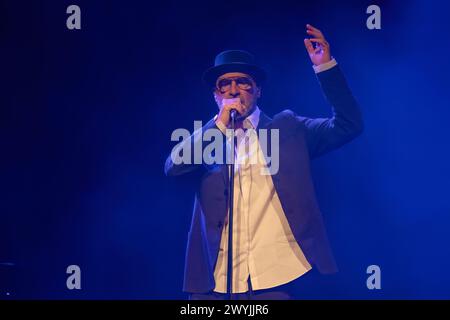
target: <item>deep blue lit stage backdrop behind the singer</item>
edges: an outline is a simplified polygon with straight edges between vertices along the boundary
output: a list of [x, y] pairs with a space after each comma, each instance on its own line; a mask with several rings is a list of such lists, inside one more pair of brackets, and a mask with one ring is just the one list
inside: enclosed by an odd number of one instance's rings
[[[81, 7], [82, 29], [66, 28]], [[381, 30], [366, 8], [381, 7]], [[202, 72], [246, 49], [260, 107], [328, 116], [303, 39], [331, 43], [366, 130], [314, 161], [340, 272], [305, 299], [450, 298], [446, 1], [0, 2], [0, 288], [15, 298], [184, 299], [193, 192], [163, 174], [176, 128], [217, 111]], [[66, 268], [82, 290], [66, 288]], [[368, 290], [366, 268], [381, 268]]]

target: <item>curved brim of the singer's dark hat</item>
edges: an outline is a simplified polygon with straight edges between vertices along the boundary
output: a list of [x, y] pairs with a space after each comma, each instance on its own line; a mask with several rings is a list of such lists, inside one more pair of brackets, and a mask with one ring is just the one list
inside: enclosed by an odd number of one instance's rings
[[266, 80], [266, 72], [260, 67], [248, 63], [228, 63], [211, 67], [203, 73], [203, 81], [210, 87], [216, 86], [217, 78], [228, 72], [242, 72], [251, 76], [260, 85]]

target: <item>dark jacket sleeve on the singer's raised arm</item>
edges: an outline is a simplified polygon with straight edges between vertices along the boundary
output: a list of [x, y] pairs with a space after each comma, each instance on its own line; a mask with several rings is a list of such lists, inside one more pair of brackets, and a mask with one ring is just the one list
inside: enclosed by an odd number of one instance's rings
[[331, 118], [297, 120], [306, 128], [310, 157], [318, 157], [353, 140], [364, 125], [358, 103], [353, 97], [339, 66], [317, 73], [325, 98], [331, 105]]

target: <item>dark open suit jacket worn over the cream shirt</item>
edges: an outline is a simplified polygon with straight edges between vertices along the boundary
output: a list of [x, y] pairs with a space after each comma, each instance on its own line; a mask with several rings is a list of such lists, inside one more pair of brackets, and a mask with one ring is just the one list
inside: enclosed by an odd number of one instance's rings
[[[275, 190], [292, 233], [309, 263], [321, 273], [333, 273], [337, 267], [316, 202], [310, 160], [358, 136], [363, 130], [363, 122], [339, 66], [318, 73], [317, 78], [332, 106], [331, 118], [305, 118], [285, 110], [270, 119], [261, 113], [258, 129], [279, 129], [279, 170], [272, 176]], [[203, 127], [203, 133], [209, 128], [217, 128], [213, 120]], [[193, 135], [184, 143], [193, 144], [195, 139]], [[196, 177], [183, 290], [210, 291], [215, 287], [214, 268], [227, 216], [226, 165], [175, 165], [169, 155], [165, 173], [168, 176], [191, 173]]]

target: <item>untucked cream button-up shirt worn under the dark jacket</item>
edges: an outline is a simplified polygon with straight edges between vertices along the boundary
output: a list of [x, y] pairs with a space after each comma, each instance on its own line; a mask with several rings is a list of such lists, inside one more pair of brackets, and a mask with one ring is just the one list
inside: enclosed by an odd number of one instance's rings
[[[336, 65], [332, 59], [315, 66], [316, 73]], [[256, 135], [261, 111], [248, 116], [242, 129], [236, 130], [234, 207], [233, 207], [233, 293], [288, 283], [311, 269], [295, 240], [273, 185], [271, 175], [263, 175], [267, 164]], [[226, 127], [216, 121], [225, 133]], [[228, 257], [228, 219], [222, 232], [219, 255], [214, 270], [214, 291], [226, 293]]]

